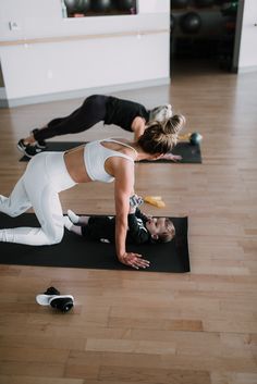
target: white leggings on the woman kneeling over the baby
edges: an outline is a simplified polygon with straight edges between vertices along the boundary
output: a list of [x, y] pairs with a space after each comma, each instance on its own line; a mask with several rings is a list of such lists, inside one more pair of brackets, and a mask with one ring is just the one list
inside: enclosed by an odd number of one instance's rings
[[10, 197], [0, 195], [0, 212], [17, 216], [27, 209], [34, 212], [40, 227], [0, 230], [0, 241], [42, 246], [60, 243], [64, 222], [59, 193], [76, 183], [66, 171], [64, 152], [42, 152], [35, 156]]

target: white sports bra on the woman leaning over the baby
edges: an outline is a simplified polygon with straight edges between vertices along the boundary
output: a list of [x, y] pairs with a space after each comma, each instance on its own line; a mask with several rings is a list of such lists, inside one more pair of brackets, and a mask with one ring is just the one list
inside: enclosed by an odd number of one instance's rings
[[134, 163], [134, 159], [127, 154], [124, 154], [124, 153], [121, 153], [121, 152], [118, 152], [112, 149], [103, 147], [101, 145], [101, 143], [103, 143], [103, 141], [120, 144], [124, 147], [133, 149], [136, 154], [137, 154], [137, 151], [135, 150], [135, 148], [128, 146], [127, 144], [120, 143], [120, 141], [111, 139], [111, 138], [91, 141], [85, 146], [84, 162], [85, 162], [85, 168], [86, 168], [88, 176], [93, 181], [111, 183], [111, 182], [113, 182], [114, 177], [111, 176], [109, 173], [107, 173], [105, 170], [105, 163], [106, 163], [107, 159], [109, 159], [111, 157], [119, 157], [119, 158], [127, 159], [127, 160], [132, 161], [133, 163]]

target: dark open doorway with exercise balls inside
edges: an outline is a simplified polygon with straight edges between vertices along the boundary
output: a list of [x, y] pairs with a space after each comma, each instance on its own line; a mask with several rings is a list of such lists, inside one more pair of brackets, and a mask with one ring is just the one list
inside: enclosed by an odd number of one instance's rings
[[187, 67], [236, 72], [237, 13], [238, 0], [171, 0], [171, 75]]

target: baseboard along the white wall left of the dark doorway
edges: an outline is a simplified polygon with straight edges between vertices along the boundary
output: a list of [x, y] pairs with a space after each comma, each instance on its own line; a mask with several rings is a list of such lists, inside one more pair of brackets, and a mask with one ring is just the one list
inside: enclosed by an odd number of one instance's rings
[[64, 92], [57, 94], [48, 94], [48, 95], [37, 95], [32, 97], [24, 97], [17, 99], [0, 99], [0, 108], [13, 108], [20, 106], [28, 106], [28, 104], [38, 104], [44, 102], [59, 101], [59, 100], [68, 100], [68, 99], [76, 99], [81, 97], [87, 97], [94, 94], [110, 94], [114, 91], [122, 91], [128, 89], [138, 89], [138, 88], [148, 88], [156, 87], [161, 85], [169, 85], [170, 77], [158, 78], [154, 80], [145, 80], [145, 82], [135, 82], [135, 83], [126, 83], [119, 84], [112, 86], [105, 87], [96, 87], [96, 88], [86, 88], [86, 89], [77, 89]]

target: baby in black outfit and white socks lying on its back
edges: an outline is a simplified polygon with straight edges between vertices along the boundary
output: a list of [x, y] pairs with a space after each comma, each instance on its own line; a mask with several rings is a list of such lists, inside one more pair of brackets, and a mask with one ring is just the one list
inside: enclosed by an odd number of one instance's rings
[[[65, 227], [76, 235], [102, 243], [115, 241], [115, 216], [78, 216], [68, 210]], [[127, 215], [127, 244], [169, 243], [175, 236], [175, 227], [168, 218], [151, 218], [139, 208], [130, 207]]]

